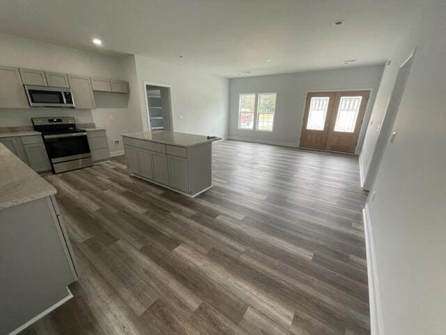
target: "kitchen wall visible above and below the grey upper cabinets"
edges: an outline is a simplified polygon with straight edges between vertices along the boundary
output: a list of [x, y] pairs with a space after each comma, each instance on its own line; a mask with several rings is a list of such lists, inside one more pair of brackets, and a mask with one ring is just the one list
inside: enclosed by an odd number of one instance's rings
[[[105, 77], [128, 80], [130, 75], [124, 60], [94, 52], [77, 50], [28, 38], [0, 34], [0, 64], [73, 73], [90, 77]], [[96, 95], [96, 94], [95, 94]], [[31, 126], [31, 117], [74, 116], [78, 123], [95, 122], [107, 128], [110, 150], [121, 150], [113, 140], [120, 138], [122, 131], [137, 131], [136, 125], [129, 124], [129, 111], [125, 95], [108, 94], [107, 99], [98, 98], [96, 110], [72, 110], [64, 108], [28, 108], [0, 110], [0, 126]], [[102, 106], [102, 107], [101, 107]], [[139, 110], [135, 114], [139, 114]]]

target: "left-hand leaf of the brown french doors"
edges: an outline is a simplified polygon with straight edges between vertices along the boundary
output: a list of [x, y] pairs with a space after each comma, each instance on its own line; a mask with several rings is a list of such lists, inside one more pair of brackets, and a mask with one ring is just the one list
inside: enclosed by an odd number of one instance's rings
[[336, 92], [310, 92], [307, 94], [300, 147], [325, 149], [335, 96]]

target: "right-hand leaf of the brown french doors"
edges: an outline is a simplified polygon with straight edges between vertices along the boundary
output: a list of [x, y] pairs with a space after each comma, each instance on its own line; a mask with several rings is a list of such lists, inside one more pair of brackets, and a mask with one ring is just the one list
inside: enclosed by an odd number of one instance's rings
[[326, 150], [355, 153], [370, 91], [337, 92], [330, 117]]

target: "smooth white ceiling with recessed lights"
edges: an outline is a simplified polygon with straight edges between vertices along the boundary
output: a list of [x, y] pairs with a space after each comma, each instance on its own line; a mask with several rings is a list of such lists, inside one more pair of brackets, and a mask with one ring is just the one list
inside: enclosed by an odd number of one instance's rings
[[[238, 77], [384, 63], [422, 0], [0, 0], [0, 8], [6, 34]], [[334, 27], [338, 20], [345, 24]]]

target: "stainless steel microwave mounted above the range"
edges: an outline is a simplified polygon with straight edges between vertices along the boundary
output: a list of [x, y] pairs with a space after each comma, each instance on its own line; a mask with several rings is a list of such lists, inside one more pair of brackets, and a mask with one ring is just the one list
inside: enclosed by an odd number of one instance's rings
[[31, 107], [75, 107], [71, 89], [24, 85]]

